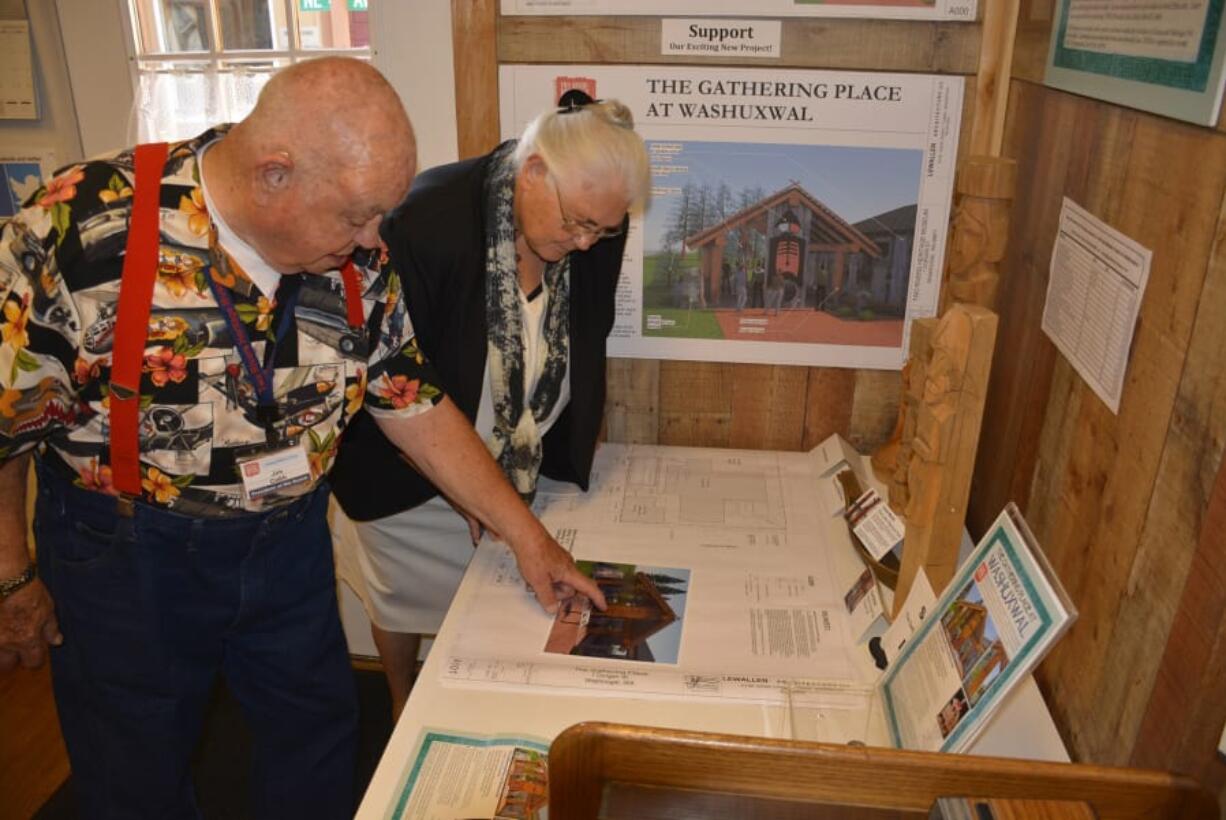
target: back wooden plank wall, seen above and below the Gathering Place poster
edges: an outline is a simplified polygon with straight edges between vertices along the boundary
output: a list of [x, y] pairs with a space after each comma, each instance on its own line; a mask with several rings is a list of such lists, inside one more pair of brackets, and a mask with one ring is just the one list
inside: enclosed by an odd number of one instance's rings
[[[964, 75], [969, 82], [959, 156], [966, 154], [972, 141], [976, 109], [987, 110], [983, 121], [991, 124], [1002, 101], [996, 88], [998, 71], [978, 89], [975, 82], [984, 59], [980, 49], [983, 22], [786, 20], [783, 59], [766, 64], [662, 56], [657, 17], [501, 17], [494, 6], [494, 0], [452, 2], [456, 54], [466, 55], [456, 64], [457, 97], [468, 101], [471, 112], [461, 112], [461, 156], [479, 153], [498, 141], [497, 96], [482, 98], [474, 91], [484, 82], [481, 75], [488, 76], [488, 63], [481, 58], [488, 48], [497, 49], [498, 63], [707, 64]], [[1000, 26], [991, 25], [994, 31]], [[489, 28], [497, 32], [497, 42], [483, 47]], [[997, 49], [987, 59], [999, 66], [1000, 55]], [[981, 141], [991, 141], [991, 136]], [[608, 368], [606, 433], [609, 440], [623, 442], [779, 450], [809, 449], [831, 433], [841, 433], [868, 451], [889, 438], [899, 391], [896, 371], [615, 359]]]

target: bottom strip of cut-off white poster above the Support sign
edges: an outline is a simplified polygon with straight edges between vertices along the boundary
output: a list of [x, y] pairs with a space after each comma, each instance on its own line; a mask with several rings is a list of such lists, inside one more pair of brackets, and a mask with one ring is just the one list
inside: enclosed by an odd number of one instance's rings
[[975, 20], [976, 0], [503, 0], [504, 15], [770, 15]]

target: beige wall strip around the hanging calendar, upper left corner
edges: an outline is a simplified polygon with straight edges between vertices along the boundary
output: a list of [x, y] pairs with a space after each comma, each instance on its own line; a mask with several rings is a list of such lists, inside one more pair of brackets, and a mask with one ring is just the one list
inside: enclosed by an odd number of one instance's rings
[[47, 0], [25, 6], [22, 0], [0, 0], [0, 18], [29, 18], [39, 119], [0, 120], [0, 154], [50, 152], [54, 164], [63, 165], [82, 153], [59, 20]]

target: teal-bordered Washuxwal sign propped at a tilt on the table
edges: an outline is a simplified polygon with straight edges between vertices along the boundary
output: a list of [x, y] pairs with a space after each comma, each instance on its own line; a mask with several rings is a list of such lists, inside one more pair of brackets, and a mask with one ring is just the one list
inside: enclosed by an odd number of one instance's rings
[[[1009, 504], [931, 614], [897, 656], [891, 653], [864, 717], [864, 740], [966, 750], [1075, 619], [1059, 579]], [[792, 737], [820, 738], [809, 726], [813, 715], [803, 693], [790, 693]]]

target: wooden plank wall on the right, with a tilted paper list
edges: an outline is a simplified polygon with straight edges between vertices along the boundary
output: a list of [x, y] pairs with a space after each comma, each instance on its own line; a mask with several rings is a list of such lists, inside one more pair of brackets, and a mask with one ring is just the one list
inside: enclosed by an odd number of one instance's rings
[[[1038, 674], [1073, 754], [1221, 791], [1226, 134], [1043, 87], [1052, 10], [1021, 4], [1020, 181], [969, 523], [1016, 500], [1080, 609]], [[1118, 416], [1040, 330], [1064, 196], [1154, 251]]]

